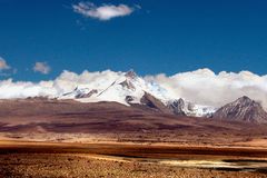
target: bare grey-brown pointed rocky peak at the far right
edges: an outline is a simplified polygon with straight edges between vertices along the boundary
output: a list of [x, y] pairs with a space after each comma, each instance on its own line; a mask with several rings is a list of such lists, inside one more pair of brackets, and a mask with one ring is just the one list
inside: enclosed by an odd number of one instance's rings
[[219, 108], [214, 118], [267, 123], [267, 112], [261, 105], [246, 96]]

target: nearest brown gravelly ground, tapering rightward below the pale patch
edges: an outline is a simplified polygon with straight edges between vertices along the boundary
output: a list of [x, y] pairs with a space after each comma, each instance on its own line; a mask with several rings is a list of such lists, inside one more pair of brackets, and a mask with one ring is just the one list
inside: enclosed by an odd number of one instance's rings
[[0, 177], [90, 177], [90, 178], [264, 178], [264, 172], [224, 171], [215, 169], [179, 168], [148, 162], [102, 160], [61, 154], [0, 155]]

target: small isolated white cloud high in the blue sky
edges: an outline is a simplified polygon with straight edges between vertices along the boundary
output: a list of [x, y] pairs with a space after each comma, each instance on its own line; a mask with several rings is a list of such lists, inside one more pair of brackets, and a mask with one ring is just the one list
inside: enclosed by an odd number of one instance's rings
[[[92, 2], [79, 2], [78, 4], [73, 4], [72, 8], [77, 13], [99, 20], [110, 20], [117, 17], [129, 16], [136, 9], [128, 7], [127, 4], [102, 4], [100, 7], [97, 7]], [[138, 9], [139, 8], [140, 6], [138, 6]]]

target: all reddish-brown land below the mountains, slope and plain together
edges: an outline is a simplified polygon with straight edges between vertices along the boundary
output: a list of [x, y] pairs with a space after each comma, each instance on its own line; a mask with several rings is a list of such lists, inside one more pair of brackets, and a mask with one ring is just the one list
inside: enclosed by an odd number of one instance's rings
[[0, 102], [3, 177], [266, 177], [267, 126], [116, 102]]

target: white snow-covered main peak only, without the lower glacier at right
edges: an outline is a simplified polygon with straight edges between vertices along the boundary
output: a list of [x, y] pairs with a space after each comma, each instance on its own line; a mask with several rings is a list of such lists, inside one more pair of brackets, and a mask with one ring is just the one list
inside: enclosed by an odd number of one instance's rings
[[[116, 101], [128, 106], [129, 103], [140, 103], [145, 92], [149, 92], [161, 101], [167, 102], [167, 91], [160, 86], [146, 82], [132, 70], [118, 75], [115, 81], [106, 81], [109, 85], [102, 88], [76, 88], [73, 91], [62, 95], [59, 99], [76, 99], [81, 102]], [[88, 95], [91, 91], [97, 92]], [[130, 100], [128, 100], [129, 97], [131, 98]]]

